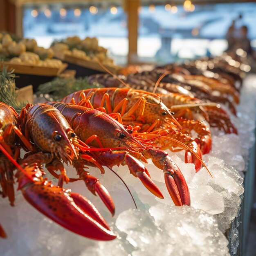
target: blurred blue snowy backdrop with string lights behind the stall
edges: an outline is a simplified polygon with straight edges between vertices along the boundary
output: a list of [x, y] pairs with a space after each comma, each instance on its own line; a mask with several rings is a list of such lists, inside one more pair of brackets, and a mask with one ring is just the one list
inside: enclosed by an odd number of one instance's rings
[[232, 22], [237, 31], [247, 26], [251, 46], [256, 49], [256, 3], [251, 1], [13, 0], [11, 3], [15, 5], [16, 34], [34, 38], [43, 47], [67, 36], [97, 37], [99, 45], [108, 48], [120, 65], [163, 64], [220, 55], [228, 48], [227, 31]]

